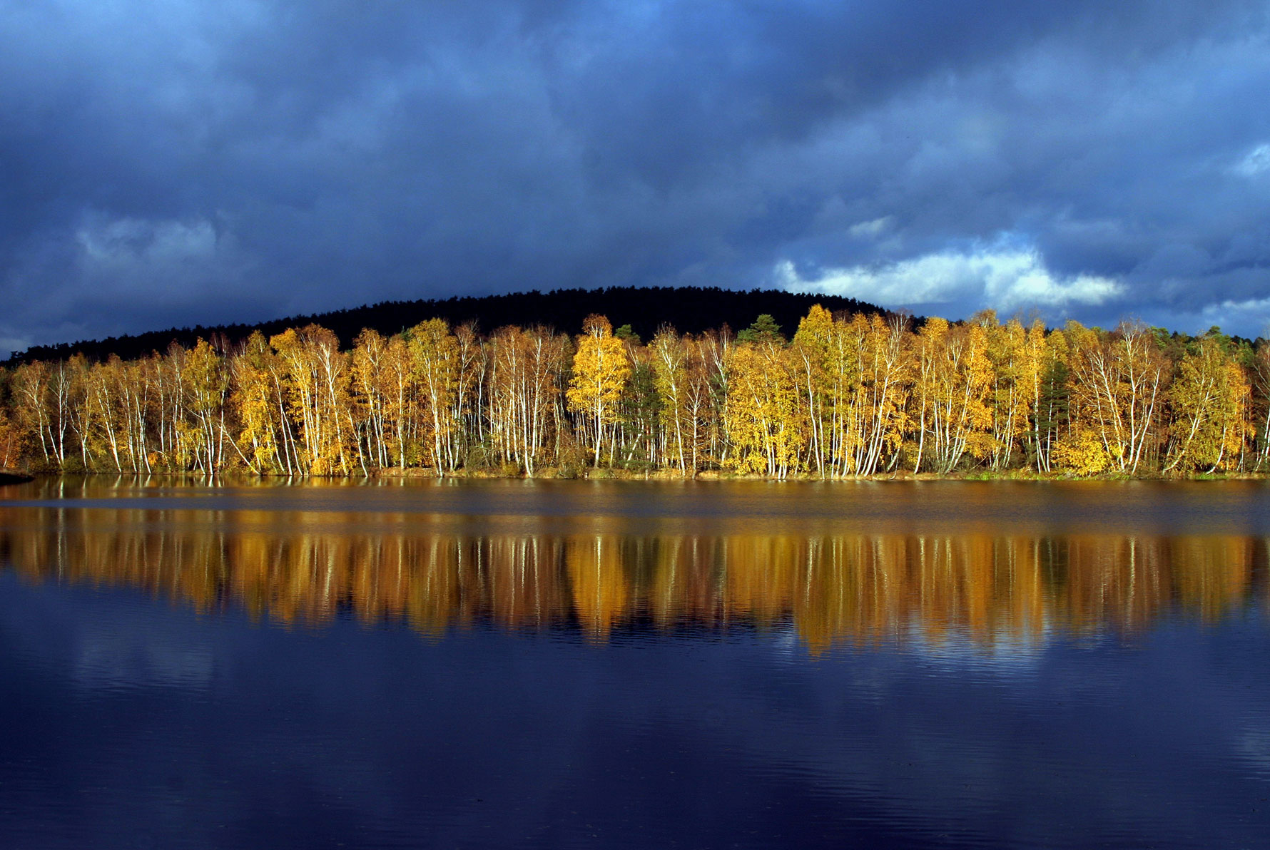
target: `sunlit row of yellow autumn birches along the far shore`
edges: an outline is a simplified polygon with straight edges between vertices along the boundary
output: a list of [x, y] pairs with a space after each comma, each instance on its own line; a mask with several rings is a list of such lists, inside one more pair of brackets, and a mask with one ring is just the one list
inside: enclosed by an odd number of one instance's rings
[[603, 316], [550, 327], [423, 321], [345, 349], [318, 325], [232, 346], [0, 373], [0, 464], [34, 471], [772, 478], [1027, 469], [1259, 472], [1270, 346], [1124, 322], [1048, 330], [831, 313], [790, 339]]

